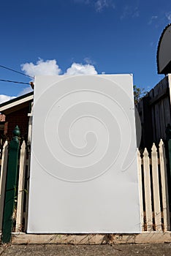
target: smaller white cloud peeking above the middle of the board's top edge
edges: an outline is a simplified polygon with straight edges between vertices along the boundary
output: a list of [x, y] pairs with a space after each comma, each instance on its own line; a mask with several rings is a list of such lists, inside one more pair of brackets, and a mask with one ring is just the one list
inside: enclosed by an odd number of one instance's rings
[[96, 75], [96, 69], [90, 64], [73, 63], [71, 67], [66, 70], [66, 75]]

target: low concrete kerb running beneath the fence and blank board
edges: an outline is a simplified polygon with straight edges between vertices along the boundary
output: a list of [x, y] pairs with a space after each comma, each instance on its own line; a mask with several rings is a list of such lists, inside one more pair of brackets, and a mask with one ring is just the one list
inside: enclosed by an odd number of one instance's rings
[[140, 234], [26, 234], [12, 233], [12, 244], [159, 244], [171, 243], [171, 232]]

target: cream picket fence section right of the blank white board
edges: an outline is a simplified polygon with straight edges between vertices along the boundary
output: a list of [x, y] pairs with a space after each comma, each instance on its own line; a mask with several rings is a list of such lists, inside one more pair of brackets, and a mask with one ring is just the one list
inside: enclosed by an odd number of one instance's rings
[[141, 223], [143, 231], [170, 231], [170, 209], [167, 184], [167, 160], [164, 143], [159, 149], [153, 143], [151, 158], [145, 148], [137, 151]]

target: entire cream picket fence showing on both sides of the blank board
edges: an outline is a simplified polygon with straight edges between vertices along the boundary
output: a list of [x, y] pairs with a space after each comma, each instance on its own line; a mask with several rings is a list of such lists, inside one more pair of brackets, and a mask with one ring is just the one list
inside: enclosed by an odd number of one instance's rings
[[[27, 154], [26, 154], [27, 152]], [[7, 173], [8, 143], [4, 143], [2, 159], [0, 159], [0, 233], [2, 228], [4, 189]], [[143, 154], [137, 150], [137, 163], [140, 187], [140, 214], [142, 231], [170, 231], [170, 210], [167, 187], [167, 162], [164, 143], [161, 140], [159, 148], [153, 144], [151, 158], [145, 148]], [[25, 231], [28, 212], [28, 180], [29, 154], [26, 143], [20, 148], [18, 201], [15, 213], [15, 232]]]

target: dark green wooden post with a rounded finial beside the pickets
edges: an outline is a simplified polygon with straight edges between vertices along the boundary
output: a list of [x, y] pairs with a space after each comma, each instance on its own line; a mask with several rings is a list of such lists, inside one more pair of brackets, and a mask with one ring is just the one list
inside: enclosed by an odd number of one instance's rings
[[17, 176], [18, 176], [18, 151], [20, 129], [18, 126], [13, 130], [13, 138], [9, 143], [9, 156], [7, 165], [7, 183], [4, 198], [4, 215], [2, 224], [2, 243], [11, 241], [12, 232], [12, 214], [15, 206], [15, 195], [17, 192]]

